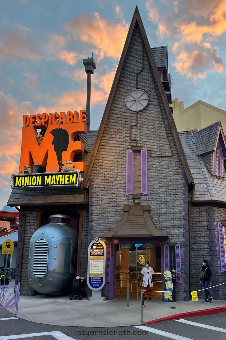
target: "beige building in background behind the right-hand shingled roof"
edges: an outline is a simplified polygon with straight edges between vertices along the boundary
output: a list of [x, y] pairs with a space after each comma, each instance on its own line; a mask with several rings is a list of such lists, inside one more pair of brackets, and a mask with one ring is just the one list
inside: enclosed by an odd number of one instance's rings
[[198, 102], [184, 108], [183, 100], [172, 100], [172, 111], [177, 131], [200, 130], [212, 123], [221, 121], [226, 133], [226, 111], [198, 100]]

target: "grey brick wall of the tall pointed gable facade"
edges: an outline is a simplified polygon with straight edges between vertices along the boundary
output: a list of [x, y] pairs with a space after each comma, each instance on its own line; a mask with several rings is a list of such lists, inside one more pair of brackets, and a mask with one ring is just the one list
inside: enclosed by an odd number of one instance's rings
[[[136, 142], [130, 141], [130, 126], [136, 122], [136, 113], [126, 108], [125, 97], [136, 88], [136, 75], [142, 69], [142, 49], [143, 42], [136, 26], [91, 171], [89, 230], [93, 237], [114, 228], [122, 217], [123, 205], [134, 203], [131, 195], [126, 196], [125, 190], [126, 150], [136, 145]], [[151, 150], [151, 156], [148, 151], [148, 194], [142, 194], [137, 201], [150, 204], [151, 218], [157, 228], [169, 235], [169, 241], [181, 244], [182, 284], [177, 284], [177, 290], [185, 290], [187, 181], [184, 180], [182, 162], [158, 89], [156, 95], [157, 83], [152, 82], [151, 72], [153, 75], [144, 51], [144, 69], [138, 75], [138, 88], [147, 91], [150, 102], [144, 111], [138, 113], [138, 125], [132, 128], [132, 139], [137, 139], [138, 145]], [[184, 294], [179, 299], [184, 299]]]

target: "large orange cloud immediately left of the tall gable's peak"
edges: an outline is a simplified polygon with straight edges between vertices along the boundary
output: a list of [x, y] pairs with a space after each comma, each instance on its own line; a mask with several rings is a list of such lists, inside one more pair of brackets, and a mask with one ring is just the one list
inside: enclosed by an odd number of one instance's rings
[[94, 47], [99, 59], [104, 56], [117, 59], [122, 53], [128, 27], [105, 20], [99, 13], [83, 14], [64, 24], [74, 39]]

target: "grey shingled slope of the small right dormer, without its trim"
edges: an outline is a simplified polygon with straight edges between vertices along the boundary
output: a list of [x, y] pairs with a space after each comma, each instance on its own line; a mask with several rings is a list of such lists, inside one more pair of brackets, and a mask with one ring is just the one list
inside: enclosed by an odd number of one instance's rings
[[215, 122], [194, 134], [197, 145], [197, 156], [214, 151], [220, 121]]

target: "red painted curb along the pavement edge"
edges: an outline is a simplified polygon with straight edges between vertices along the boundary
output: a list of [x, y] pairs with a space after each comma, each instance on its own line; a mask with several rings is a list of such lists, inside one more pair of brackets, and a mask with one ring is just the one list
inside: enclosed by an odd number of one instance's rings
[[190, 317], [197, 317], [199, 315], [209, 315], [209, 314], [217, 314], [217, 313], [224, 313], [224, 312], [226, 312], [226, 306], [209, 308], [209, 309], [201, 309], [201, 310], [193, 310], [192, 312], [174, 314], [174, 315], [170, 315], [170, 316], [165, 317], [165, 318], [143, 322], [142, 325], [160, 322], [160, 321], [184, 319], [184, 318], [190, 318]]

